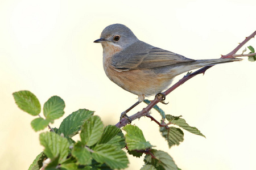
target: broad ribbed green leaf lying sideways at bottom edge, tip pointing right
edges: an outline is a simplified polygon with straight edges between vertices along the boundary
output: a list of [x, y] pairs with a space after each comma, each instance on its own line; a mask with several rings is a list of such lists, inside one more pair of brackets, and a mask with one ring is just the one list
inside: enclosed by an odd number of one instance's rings
[[110, 144], [99, 144], [94, 147], [93, 159], [98, 163], [106, 163], [112, 169], [123, 169], [129, 163], [123, 150]]

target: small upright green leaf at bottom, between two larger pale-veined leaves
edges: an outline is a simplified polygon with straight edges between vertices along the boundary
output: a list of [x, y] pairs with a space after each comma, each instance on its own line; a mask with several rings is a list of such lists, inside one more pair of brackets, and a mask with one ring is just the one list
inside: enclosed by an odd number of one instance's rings
[[90, 152], [80, 141], [77, 142], [72, 150], [72, 155], [77, 159], [80, 165], [88, 165], [92, 163]]

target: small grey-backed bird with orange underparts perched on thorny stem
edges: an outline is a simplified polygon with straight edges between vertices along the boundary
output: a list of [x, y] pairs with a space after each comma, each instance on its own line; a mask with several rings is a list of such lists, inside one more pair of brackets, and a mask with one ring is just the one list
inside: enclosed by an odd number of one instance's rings
[[189, 59], [140, 41], [123, 24], [106, 27], [100, 42], [103, 48], [103, 67], [106, 75], [124, 90], [138, 95], [138, 101], [121, 114], [141, 103], [145, 97], [166, 90], [175, 76], [208, 65], [239, 61], [237, 58]]

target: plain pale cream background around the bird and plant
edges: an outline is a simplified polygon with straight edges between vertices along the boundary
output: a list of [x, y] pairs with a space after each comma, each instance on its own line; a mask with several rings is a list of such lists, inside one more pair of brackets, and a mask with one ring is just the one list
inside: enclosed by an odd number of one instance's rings
[[[140, 40], [188, 58], [219, 58], [255, 31], [255, 8], [254, 0], [0, 1], [0, 169], [27, 169], [43, 150], [40, 132], [30, 126], [35, 117], [16, 107], [15, 91], [30, 90], [42, 105], [58, 95], [66, 104], [64, 117], [86, 108], [105, 125], [117, 123], [137, 101], [102, 68], [102, 47], [93, 41], [107, 25], [125, 24]], [[248, 45], [256, 47], [255, 40]], [[182, 115], [206, 139], [185, 132], [184, 142], [169, 149], [148, 118], [133, 124], [181, 169], [256, 169], [255, 73], [256, 63], [247, 58], [214, 66], [159, 105]], [[143, 165], [142, 158], [129, 160], [127, 169]]]

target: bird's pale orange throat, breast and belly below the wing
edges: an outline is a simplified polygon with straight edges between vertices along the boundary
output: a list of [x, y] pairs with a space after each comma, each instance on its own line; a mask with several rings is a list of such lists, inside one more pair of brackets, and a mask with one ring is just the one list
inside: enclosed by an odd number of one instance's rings
[[171, 84], [171, 77], [166, 74], [156, 74], [151, 69], [118, 70], [111, 63], [111, 57], [120, 52], [119, 46], [110, 43], [102, 44], [103, 66], [106, 75], [115, 84], [138, 96], [151, 96], [162, 92]]

